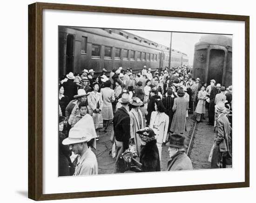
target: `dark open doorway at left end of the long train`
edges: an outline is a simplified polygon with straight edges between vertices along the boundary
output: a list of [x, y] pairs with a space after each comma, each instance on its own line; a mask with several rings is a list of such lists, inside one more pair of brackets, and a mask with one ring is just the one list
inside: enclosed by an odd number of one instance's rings
[[67, 49], [66, 49], [66, 74], [74, 73], [74, 35], [67, 35]]

